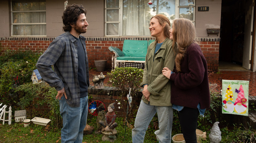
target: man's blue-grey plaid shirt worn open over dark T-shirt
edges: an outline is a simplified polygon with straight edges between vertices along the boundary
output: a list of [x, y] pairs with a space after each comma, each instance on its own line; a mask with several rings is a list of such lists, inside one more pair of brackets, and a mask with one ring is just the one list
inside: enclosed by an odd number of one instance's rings
[[[85, 38], [79, 36], [85, 52], [87, 85], [89, 86], [89, 63], [85, 47]], [[66, 100], [71, 107], [80, 105], [80, 88], [77, 78], [78, 41], [70, 34], [65, 32], [56, 37], [49, 45], [42, 56], [39, 57], [36, 68], [42, 79], [57, 91], [65, 87], [68, 99]], [[51, 66], [54, 66], [54, 71]]]

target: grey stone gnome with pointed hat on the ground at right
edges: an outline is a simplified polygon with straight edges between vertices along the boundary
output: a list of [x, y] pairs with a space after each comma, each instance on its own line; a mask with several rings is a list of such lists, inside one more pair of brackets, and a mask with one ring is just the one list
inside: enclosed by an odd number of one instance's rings
[[215, 122], [212, 126], [211, 132], [209, 134], [210, 143], [221, 142], [221, 130], [218, 126], [220, 122]]

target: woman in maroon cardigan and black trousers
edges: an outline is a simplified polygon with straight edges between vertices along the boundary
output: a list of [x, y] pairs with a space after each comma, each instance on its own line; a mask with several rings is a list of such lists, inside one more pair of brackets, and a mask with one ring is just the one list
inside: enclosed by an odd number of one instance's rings
[[186, 143], [196, 143], [197, 118], [210, 107], [207, 63], [195, 42], [194, 24], [184, 18], [175, 19], [170, 39], [178, 44], [173, 71], [163, 68], [164, 76], [172, 81], [171, 103], [178, 110], [181, 130]]

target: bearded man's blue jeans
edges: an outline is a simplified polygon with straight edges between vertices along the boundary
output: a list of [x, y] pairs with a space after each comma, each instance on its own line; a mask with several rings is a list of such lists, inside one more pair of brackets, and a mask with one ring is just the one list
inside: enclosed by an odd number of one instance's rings
[[88, 96], [80, 98], [79, 107], [70, 107], [62, 96], [59, 100], [60, 115], [63, 119], [61, 129], [62, 143], [81, 143], [83, 141], [83, 130], [86, 126], [88, 114]]

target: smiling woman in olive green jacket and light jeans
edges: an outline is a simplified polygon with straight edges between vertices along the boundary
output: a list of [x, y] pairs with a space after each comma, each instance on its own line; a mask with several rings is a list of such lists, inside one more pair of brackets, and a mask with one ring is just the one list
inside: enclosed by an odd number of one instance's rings
[[172, 47], [172, 40], [169, 39], [170, 21], [166, 16], [153, 16], [149, 29], [156, 40], [149, 45], [146, 55], [143, 81], [140, 84], [143, 96], [132, 130], [132, 140], [134, 143], [143, 143], [148, 125], [157, 113], [159, 130], [155, 134], [160, 143], [170, 143], [173, 121], [171, 82], [162, 75], [162, 69], [173, 69], [177, 45]]

